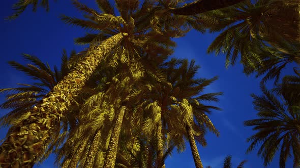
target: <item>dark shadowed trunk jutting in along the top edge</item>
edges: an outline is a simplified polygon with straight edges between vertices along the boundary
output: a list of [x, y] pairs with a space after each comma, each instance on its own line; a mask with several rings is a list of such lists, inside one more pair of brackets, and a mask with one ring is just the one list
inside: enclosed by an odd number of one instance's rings
[[216, 9], [225, 8], [244, 0], [198, 0], [182, 8], [170, 8], [169, 12], [175, 15], [196, 15]]

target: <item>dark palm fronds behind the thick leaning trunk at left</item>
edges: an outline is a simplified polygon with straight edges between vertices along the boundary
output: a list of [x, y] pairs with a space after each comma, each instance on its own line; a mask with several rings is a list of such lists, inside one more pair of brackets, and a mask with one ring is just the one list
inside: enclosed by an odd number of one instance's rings
[[[67, 57], [67, 52], [63, 51], [61, 70], [58, 70], [54, 66], [54, 71], [48, 64], [44, 64], [40, 59], [35, 56], [23, 54], [23, 58], [30, 63], [26, 65], [19, 64], [15, 61], [10, 61], [9, 64], [31, 76], [34, 81], [33, 84], [22, 84], [19, 83], [20, 87], [17, 88], [6, 88], [1, 89], [1, 93], [6, 93], [7, 100], [0, 105], [1, 108], [11, 109], [9, 113], [1, 117], [1, 124], [5, 126], [14, 125], [22, 122], [24, 117], [27, 115], [27, 111], [33, 106], [39, 104], [46, 94], [53, 89], [57, 82], [61, 81], [74, 66], [79, 58], [75, 51], [71, 52], [71, 57]], [[68, 119], [73, 120], [72, 117], [64, 117], [62, 119], [62, 125], [58, 124], [54, 129], [51, 139], [50, 146], [44, 147], [43, 154], [41, 154], [37, 161], [43, 161], [48, 155], [55, 150], [66, 137], [65, 132], [60, 133], [61, 129], [66, 130], [68, 128]], [[71, 123], [70, 123], [71, 124]], [[24, 139], [23, 139], [24, 140]]]

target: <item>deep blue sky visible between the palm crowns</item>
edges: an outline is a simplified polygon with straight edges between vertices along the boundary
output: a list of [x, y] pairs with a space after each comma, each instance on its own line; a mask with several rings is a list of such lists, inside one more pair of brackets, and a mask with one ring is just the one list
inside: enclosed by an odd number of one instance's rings
[[[14, 1], [3, 1], [0, 10], [0, 51], [1, 51], [1, 81], [0, 88], [15, 87], [16, 83], [29, 82], [26, 75], [10, 67], [7, 62], [14, 60], [25, 63], [21, 58], [21, 53], [32, 54], [39, 57], [43, 62], [48, 62], [51, 66], [60, 65], [61, 53], [66, 49], [81, 51], [83, 46], [75, 46], [73, 39], [84, 34], [84, 30], [64, 24], [59, 20], [60, 14], [67, 16], [78, 16], [81, 14], [70, 1], [61, 0], [57, 3], [50, 1], [50, 12], [39, 8], [33, 13], [31, 9], [26, 10], [19, 18], [13, 21], [4, 20], [12, 14], [12, 4]], [[94, 1], [81, 1], [89, 6], [97, 8]], [[225, 68], [224, 56], [207, 55], [206, 49], [216, 34], [206, 33], [204, 35], [191, 31], [187, 36], [177, 38], [177, 48], [174, 57], [195, 59], [196, 64], [201, 65], [199, 77], [218, 75], [217, 80], [205, 92], [224, 92], [220, 97], [220, 102], [215, 104], [221, 107], [222, 111], [214, 111], [210, 116], [216, 128], [220, 131], [220, 137], [207, 134], [208, 145], [201, 147], [198, 145], [200, 157], [203, 165], [211, 165], [213, 168], [221, 167], [226, 155], [232, 155], [233, 167], [243, 159], [248, 163], [245, 167], [263, 167], [263, 161], [257, 157], [254, 150], [250, 154], [245, 154], [249, 143], [246, 138], [254, 134], [251, 128], [243, 126], [243, 121], [256, 117], [256, 111], [252, 106], [251, 93], [259, 94], [259, 82], [252, 76], [246, 76], [240, 64], [236, 64], [229, 69]], [[86, 46], [85, 46], [86, 47]], [[290, 73], [291, 67], [284, 73]], [[272, 86], [272, 85], [269, 85]], [[0, 95], [0, 103], [4, 102], [4, 95]], [[7, 113], [7, 110], [0, 110], [0, 116]], [[6, 135], [6, 129], [0, 130], [0, 138]], [[194, 167], [193, 157], [190, 147], [187, 144], [186, 151], [177, 154], [174, 150], [172, 156], [167, 158], [167, 167]], [[279, 167], [279, 155], [274, 158], [268, 167]], [[40, 167], [53, 167], [53, 155], [43, 162]], [[292, 167], [292, 160], [289, 159], [286, 167]]]

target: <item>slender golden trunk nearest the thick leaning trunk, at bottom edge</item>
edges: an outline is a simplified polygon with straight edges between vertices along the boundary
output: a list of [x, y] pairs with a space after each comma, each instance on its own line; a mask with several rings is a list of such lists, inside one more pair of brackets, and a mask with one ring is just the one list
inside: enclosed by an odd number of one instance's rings
[[87, 139], [82, 140], [82, 142], [79, 144], [76, 152], [74, 153], [74, 155], [72, 156], [72, 158], [68, 161], [66, 160], [62, 166], [62, 168], [67, 168], [67, 167], [77, 167], [78, 161], [79, 161], [79, 157], [81, 155], [81, 153], [83, 152], [85, 145], [86, 145], [86, 141]]

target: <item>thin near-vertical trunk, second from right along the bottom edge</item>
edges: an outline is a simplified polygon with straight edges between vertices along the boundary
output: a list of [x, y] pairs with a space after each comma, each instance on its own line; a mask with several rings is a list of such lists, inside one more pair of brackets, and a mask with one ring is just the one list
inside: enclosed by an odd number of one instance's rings
[[[159, 115], [160, 116], [158, 116], [158, 117], [161, 118], [162, 114], [160, 113]], [[158, 122], [156, 137], [157, 137], [157, 162], [158, 162], [158, 168], [164, 168], [165, 167], [165, 162], [164, 162], [164, 159], [163, 159], [163, 156], [164, 156], [164, 151], [163, 151], [164, 142], [163, 142], [163, 139], [162, 139], [162, 119], [160, 119], [160, 121]]]

